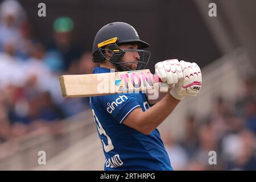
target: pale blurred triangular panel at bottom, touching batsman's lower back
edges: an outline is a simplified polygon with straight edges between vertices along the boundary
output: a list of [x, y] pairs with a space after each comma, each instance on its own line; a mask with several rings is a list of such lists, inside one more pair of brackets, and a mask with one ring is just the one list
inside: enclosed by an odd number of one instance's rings
[[96, 132], [81, 139], [66, 150], [60, 152], [47, 165], [35, 167], [34, 170], [102, 170], [104, 154]]

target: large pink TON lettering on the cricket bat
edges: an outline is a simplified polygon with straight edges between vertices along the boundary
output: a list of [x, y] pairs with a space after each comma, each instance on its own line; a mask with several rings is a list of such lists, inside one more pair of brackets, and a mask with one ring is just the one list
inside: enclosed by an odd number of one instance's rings
[[147, 86], [153, 86], [152, 76], [150, 72], [130, 72], [119, 75], [123, 82], [125, 88], [123, 90], [127, 90], [131, 87], [135, 89], [146, 88]]

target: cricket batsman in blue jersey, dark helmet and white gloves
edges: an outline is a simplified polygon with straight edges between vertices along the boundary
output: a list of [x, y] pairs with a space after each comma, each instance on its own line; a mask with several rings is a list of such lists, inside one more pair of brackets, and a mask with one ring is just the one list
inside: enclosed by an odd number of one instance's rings
[[[150, 45], [130, 24], [106, 24], [93, 42], [93, 73], [144, 69]], [[177, 59], [155, 64], [155, 73], [170, 87], [157, 100], [147, 93], [90, 97], [90, 106], [105, 154], [105, 170], [173, 170], [158, 129], [185, 97], [197, 96], [202, 76], [196, 63]], [[161, 86], [161, 85], [160, 85]], [[161, 89], [161, 88], [160, 88]], [[158, 92], [159, 90], [155, 90]]]

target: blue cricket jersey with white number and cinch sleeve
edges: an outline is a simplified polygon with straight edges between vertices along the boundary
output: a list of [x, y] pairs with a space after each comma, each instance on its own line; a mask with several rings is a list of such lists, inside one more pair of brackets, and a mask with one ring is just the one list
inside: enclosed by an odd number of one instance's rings
[[[108, 73], [96, 67], [93, 73]], [[105, 154], [105, 170], [172, 170], [159, 131], [150, 135], [122, 124], [136, 108], [150, 105], [144, 93], [123, 93], [90, 97], [94, 121]]]

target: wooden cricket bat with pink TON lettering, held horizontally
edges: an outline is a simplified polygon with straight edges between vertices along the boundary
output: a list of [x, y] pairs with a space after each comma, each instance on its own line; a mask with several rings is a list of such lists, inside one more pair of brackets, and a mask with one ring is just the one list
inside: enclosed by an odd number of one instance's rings
[[[154, 89], [156, 82], [162, 82], [157, 75], [152, 75], [149, 69], [87, 75], [62, 75], [59, 79], [63, 97], [138, 93], [139, 91]], [[160, 92], [167, 91], [167, 84], [160, 86]]]

